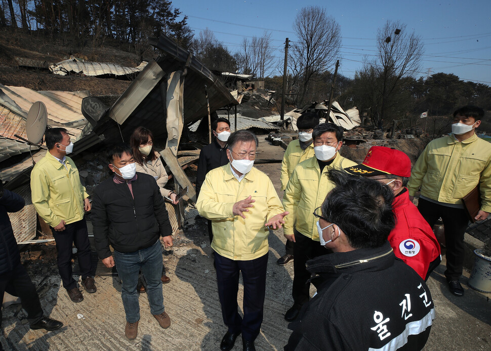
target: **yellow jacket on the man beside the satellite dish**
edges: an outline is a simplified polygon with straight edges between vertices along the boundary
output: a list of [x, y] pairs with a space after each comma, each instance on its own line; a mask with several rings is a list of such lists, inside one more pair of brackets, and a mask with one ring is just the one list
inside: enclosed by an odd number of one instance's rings
[[65, 164], [67, 168], [47, 152], [31, 172], [32, 204], [51, 227], [83, 219], [84, 199], [89, 197], [72, 159], [66, 157]]

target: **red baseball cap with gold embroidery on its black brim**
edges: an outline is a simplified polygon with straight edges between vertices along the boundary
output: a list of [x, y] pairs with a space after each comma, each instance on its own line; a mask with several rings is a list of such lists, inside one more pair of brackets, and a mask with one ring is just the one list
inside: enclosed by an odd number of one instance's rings
[[411, 176], [411, 160], [406, 154], [395, 148], [372, 146], [360, 165], [344, 170], [365, 177], [384, 174], [409, 177]]

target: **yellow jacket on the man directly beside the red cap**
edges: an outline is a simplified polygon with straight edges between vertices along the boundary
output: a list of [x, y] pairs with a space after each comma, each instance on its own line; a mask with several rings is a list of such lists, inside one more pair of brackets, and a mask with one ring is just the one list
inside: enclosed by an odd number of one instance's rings
[[295, 225], [300, 233], [319, 241], [315, 225], [317, 218], [312, 213], [322, 205], [325, 196], [334, 188], [334, 183], [328, 179], [326, 173], [333, 168], [342, 170], [355, 165], [355, 162], [345, 159], [339, 153], [332, 164], [324, 167], [322, 174], [315, 157], [299, 163], [283, 195], [284, 209], [290, 212], [290, 215], [284, 218], [284, 234], [292, 235]]

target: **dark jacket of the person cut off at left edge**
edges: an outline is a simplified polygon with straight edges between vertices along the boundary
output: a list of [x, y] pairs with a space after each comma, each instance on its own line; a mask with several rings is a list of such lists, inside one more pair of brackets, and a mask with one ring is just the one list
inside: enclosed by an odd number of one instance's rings
[[17, 241], [7, 212], [20, 211], [24, 205], [22, 196], [4, 189], [0, 197], [0, 274], [13, 270], [20, 263]]

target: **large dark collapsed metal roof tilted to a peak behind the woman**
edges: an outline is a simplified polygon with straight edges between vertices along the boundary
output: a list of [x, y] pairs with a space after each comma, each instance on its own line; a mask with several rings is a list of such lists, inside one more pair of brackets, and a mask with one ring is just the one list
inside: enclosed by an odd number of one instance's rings
[[102, 118], [94, 127], [105, 138], [122, 137], [128, 140], [138, 126], [152, 130], [155, 137], [167, 136], [166, 91], [170, 73], [181, 71], [184, 79], [183, 119], [184, 124], [193, 123], [208, 115], [206, 91], [210, 112], [237, 101], [228, 89], [207, 67], [186, 49], [165, 35], [149, 38], [149, 43], [158, 48], [162, 55], [151, 60], [127, 90], [107, 111], [110, 123]]

